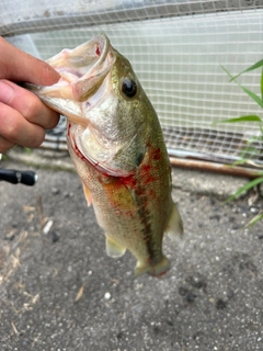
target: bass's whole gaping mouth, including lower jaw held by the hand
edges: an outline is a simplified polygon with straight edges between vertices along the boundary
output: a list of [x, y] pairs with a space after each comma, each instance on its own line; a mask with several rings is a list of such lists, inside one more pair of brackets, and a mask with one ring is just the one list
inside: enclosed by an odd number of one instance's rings
[[100, 34], [73, 49], [62, 49], [46, 60], [61, 77], [56, 84], [38, 87], [25, 82], [23, 87], [34, 92], [46, 105], [64, 114], [69, 121], [87, 127], [89, 120], [83, 117], [80, 110], [81, 103], [83, 103], [82, 107], [92, 104], [89, 99], [103, 84], [115, 59], [115, 50], [110, 39], [106, 35]]

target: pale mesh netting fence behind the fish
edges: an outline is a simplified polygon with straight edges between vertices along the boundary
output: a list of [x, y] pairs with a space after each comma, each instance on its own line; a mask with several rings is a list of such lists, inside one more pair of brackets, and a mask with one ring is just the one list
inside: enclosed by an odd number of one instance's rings
[[[132, 63], [159, 115], [170, 155], [262, 163], [258, 124], [216, 122], [262, 111], [236, 75], [263, 53], [262, 1], [2, 1], [0, 35], [47, 59], [104, 32]], [[239, 82], [260, 95], [261, 72]], [[66, 148], [65, 120], [43, 147]]]

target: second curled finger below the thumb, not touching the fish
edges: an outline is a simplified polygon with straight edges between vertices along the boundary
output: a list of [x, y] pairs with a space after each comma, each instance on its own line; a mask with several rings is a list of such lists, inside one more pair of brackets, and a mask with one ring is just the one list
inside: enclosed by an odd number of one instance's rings
[[45, 138], [45, 129], [26, 121], [16, 110], [0, 102], [0, 136], [9, 143], [37, 147]]

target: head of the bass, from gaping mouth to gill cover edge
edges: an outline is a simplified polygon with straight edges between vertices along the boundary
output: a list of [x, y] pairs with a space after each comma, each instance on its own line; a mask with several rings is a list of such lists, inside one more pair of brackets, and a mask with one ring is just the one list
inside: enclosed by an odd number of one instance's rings
[[101, 34], [47, 63], [60, 80], [26, 88], [68, 118], [76, 155], [110, 176], [134, 173], [147, 150], [155, 110], [129, 61]]

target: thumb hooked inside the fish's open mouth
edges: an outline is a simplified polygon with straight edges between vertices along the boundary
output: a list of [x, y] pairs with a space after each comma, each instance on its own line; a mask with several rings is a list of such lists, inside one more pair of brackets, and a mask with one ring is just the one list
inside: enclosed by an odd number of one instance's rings
[[0, 37], [0, 78], [13, 81], [28, 81], [37, 86], [56, 83], [60, 76], [47, 65]]

